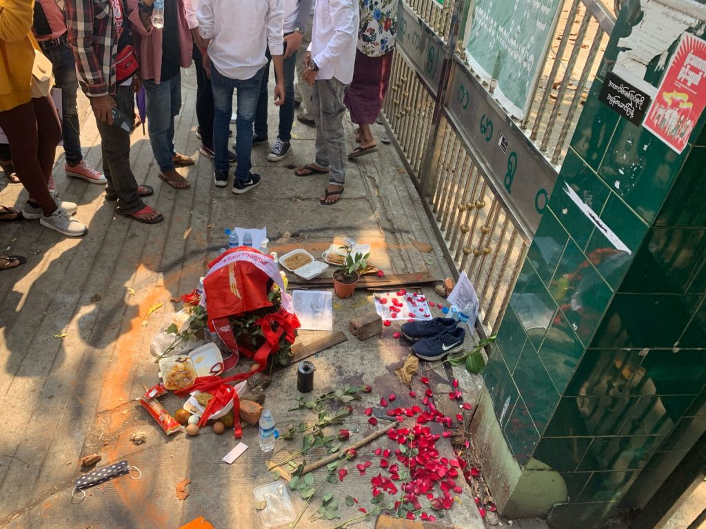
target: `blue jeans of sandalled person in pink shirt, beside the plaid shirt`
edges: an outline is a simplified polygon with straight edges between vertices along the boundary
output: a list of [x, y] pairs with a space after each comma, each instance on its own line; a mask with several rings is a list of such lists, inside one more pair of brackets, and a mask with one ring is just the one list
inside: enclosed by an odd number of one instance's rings
[[159, 85], [143, 80], [147, 95], [147, 130], [160, 170], [174, 169], [174, 116], [181, 109], [181, 72]]

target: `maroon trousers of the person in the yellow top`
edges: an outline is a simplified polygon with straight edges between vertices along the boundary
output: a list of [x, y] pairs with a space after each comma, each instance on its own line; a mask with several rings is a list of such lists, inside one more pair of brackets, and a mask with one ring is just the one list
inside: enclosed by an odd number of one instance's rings
[[44, 214], [56, 211], [49, 194], [56, 145], [61, 140], [61, 125], [54, 102], [49, 97], [33, 97], [30, 102], [0, 112], [0, 127], [10, 141], [12, 161], [20, 182]]

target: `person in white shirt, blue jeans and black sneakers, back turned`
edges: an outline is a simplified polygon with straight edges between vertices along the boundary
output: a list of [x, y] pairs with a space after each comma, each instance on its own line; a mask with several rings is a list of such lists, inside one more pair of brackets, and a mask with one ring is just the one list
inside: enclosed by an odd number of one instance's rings
[[232, 190], [236, 194], [246, 193], [261, 182], [260, 175], [250, 171], [250, 154], [268, 43], [277, 78], [275, 105], [285, 102], [283, 0], [201, 0], [196, 16], [215, 109], [213, 178], [218, 187], [228, 185], [228, 126], [235, 89], [238, 92], [235, 149], [238, 159]]

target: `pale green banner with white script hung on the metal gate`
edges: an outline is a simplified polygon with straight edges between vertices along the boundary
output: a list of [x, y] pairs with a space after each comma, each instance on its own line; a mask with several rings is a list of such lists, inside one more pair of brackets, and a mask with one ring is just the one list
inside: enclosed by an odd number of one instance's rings
[[476, 0], [466, 53], [510, 114], [523, 118], [544, 68], [561, 0]]

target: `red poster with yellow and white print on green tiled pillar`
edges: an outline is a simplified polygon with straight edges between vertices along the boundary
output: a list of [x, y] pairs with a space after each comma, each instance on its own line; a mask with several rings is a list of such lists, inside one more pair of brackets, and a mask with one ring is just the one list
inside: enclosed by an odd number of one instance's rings
[[684, 150], [706, 107], [705, 78], [706, 41], [684, 33], [642, 123], [676, 152]]

